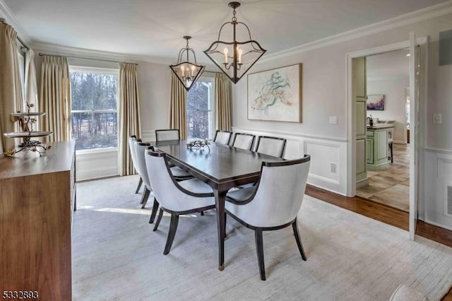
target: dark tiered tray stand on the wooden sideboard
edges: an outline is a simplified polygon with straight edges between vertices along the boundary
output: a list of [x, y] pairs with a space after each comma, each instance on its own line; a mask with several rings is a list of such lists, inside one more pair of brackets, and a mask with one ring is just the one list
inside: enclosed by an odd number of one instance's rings
[[40, 156], [45, 153], [50, 146], [46, 146], [41, 141], [32, 140], [35, 137], [50, 136], [52, 131], [33, 131], [33, 125], [36, 123], [36, 117], [45, 115], [44, 112], [30, 112], [30, 109], [35, 105], [27, 102], [28, 112], [11, 113], [11, 120], [13, 122], [19, 122], [20, 131], [13, 131], [11, 133], [5, 133], [4, 136], [8, 138], [23, 138], [23, 142], [20, 143], [18, 150], [16, 148], [8, 149], [4, 155], [13, 157], [16, 153], [21, 151], [33, 151], [39, 153]]

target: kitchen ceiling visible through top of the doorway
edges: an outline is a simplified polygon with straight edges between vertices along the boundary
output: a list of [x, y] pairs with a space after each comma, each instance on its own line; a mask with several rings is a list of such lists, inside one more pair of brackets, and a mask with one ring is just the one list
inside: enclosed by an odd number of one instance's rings
[[410, 49], [400, 49], [366, 57], [367, 81], [410, 78]]

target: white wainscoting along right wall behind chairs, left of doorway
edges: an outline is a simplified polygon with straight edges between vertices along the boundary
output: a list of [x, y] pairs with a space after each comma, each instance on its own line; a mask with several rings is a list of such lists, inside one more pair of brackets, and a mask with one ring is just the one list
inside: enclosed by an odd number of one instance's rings
[[285, 159], [292, 160], [302, 158], [304, 154], [311, 155], [309, 184], [344, 196], [347, 194], [347, 141], [345, 139], [304, 136], [275, 131], [255, 131], [237, 127], [232, 129], [234, 132], [249, 133], [256, 136], [286, 138]]

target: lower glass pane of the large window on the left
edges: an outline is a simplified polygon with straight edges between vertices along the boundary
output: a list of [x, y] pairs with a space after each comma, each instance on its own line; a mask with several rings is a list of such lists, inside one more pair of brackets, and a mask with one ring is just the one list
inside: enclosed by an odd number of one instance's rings
[[72, 113], [76, 150], [118, 146], [117, 113]]

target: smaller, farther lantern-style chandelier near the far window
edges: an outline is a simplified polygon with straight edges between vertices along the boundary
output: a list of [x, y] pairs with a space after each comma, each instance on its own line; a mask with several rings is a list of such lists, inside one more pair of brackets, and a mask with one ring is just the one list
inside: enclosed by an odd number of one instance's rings
[[[185, 90], [189, 91], [195, 81], [201, 76], [206, 66], [196, 64], [196, 55], [193, 49], [189, 47], [190, 36], [184, 35], [186, 47], [180, 49], [177, 64], [169, 65], [169, 68], [176, 74], [179, 81], [184, 85]], [[194, 63], [189, 61], [189, 53], [193, 54]], [[183, 61], [186, 54], [186, 61]]]

